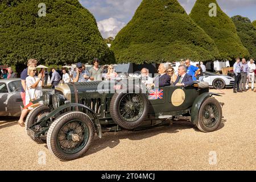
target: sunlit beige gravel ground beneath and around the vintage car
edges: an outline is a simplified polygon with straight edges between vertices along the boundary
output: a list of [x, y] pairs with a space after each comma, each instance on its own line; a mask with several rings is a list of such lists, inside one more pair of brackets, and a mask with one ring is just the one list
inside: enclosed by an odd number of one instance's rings
[[213, 133], [201, 133], [184, 121], [144, 131], [105, 133], [102, 139], [96, 137], [86, 156], [70, 162], [60, 162], [46, 144], [36, 144], [16, 125], [16, 118], [2, 117], [0, 169], [255, 170], [256, 93], [221, 92], [224, 96], [216, 98], [225, 103], [224, 122]]

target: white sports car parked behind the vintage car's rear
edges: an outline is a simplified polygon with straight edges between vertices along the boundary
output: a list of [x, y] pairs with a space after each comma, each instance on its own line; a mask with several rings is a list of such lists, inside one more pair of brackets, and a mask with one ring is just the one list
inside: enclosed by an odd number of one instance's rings
[[203, 78], [200, 77], [200, 81], [206, 81], [210, 87], [214, 89], [233, 88], [234, 78], [227, 75], [218, 75], [213, 72], [204, 72]]

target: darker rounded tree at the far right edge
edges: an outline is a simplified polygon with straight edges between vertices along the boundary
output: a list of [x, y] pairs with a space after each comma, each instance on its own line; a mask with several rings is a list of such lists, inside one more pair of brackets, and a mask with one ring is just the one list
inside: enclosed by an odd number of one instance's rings
[[237, 27], [237, 34], [243, 46], [249, 51], [250, 57], [256, 60], [256, 28], [251, 24], [249, 18], [237, 15], [233, 16], [231, 19]]

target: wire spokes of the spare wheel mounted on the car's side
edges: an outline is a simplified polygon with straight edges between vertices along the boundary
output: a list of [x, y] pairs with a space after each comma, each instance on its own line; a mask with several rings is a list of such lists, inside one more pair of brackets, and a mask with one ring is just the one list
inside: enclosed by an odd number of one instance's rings
[[127, 122], [134, 122], [143, 113], [144, 104], [139, 94], [125, 94], [119, 102], [119, 114]]

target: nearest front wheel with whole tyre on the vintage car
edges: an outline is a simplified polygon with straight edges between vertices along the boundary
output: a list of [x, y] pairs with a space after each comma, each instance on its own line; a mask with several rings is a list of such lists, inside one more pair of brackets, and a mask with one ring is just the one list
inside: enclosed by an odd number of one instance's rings
[[47, 134], [47, 147], [63, 161], [80, 158], [94, 138], [94, 125], [88, 115], [70, 111], [55, 119]]

